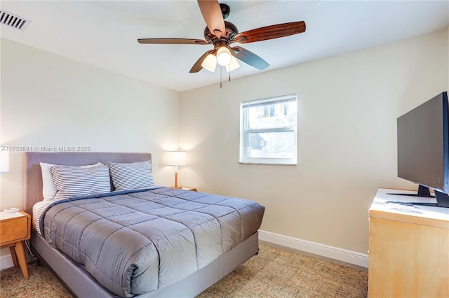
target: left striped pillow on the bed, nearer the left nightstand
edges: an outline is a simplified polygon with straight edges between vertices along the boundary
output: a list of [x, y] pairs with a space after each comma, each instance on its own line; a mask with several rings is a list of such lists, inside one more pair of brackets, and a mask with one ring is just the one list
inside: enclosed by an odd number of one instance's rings
[[109, 168], [104, 164], [90, 168], [56, 165], [51, 167], [51, 175], [55, 199], [111, 191]]

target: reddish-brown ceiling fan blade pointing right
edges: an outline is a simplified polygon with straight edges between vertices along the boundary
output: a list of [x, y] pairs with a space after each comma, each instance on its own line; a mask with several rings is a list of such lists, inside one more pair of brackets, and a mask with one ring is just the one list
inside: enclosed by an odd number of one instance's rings
[[[304, 21], [289, 22], [248, 30], [237, 34], [234, 39], [236, 40], [235, 42], [239, 43], [254, 43], [255, 41], [266, 41], [267, 39], [299, 34], [304, 31], [306, 31], [306, 23]], [[246, 38], [246, 41], [243, 41], [242, 37]]]

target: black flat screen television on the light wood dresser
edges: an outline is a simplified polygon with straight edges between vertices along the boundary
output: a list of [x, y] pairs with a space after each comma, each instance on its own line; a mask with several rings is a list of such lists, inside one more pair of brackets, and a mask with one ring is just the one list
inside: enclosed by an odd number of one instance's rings
[[[448, 92], [438, 94], [397, 120], [398, 177], [420, 185], [415, 194], [431, 197], [449, 207], [449, 103]], [[415, 204], [415, 203], [413, 203]]]

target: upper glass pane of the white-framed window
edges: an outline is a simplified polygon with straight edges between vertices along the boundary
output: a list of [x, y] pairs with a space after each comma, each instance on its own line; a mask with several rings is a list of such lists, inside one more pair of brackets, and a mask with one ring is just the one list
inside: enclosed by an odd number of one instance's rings
[[296, 126], [296, 101], [247, 108], [247, 129]]

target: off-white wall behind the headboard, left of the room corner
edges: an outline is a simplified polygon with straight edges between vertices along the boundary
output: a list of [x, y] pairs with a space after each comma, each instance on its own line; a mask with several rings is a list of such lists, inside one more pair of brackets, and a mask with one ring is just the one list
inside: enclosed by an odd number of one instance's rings
[[[159, 156], [179, 146], [179, 92], [2, 38], [0, 95], [1, 146], [152, 152], [156, 183], [173, 179]], [[23, 206], [24, 155], [10, 159], [1, 210]]]

